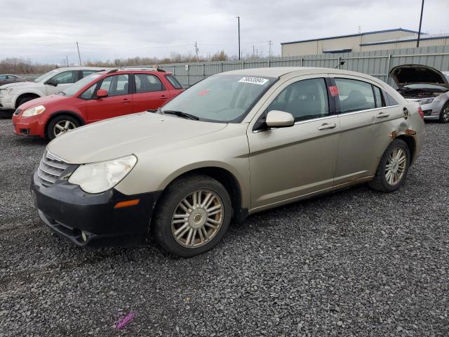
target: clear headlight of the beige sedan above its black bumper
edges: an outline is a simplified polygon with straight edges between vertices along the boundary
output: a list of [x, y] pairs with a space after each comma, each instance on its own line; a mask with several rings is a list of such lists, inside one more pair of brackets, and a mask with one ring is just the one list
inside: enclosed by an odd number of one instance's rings
[[137, 162], [137, 157], [130, 154], [100, 163], [80, 165], [70, 176], [69, 183], [79, 185], [84, 192], [105, 192], [120, 183]]

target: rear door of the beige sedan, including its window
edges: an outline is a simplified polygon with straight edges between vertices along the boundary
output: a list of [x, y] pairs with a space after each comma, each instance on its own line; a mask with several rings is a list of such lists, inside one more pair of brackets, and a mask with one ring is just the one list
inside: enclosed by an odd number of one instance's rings
[[334, 184], [340, 185], [375, 174], [403, 112], [398, 105], [387, 106], [374, 81], [340, 74], [333, 81], [341, 126]]

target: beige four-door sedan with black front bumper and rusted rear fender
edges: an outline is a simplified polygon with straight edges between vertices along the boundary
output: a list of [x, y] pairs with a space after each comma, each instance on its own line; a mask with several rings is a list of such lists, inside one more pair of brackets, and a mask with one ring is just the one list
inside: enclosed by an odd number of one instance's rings
[[229, 223], [351, 185], [396, 191], [420, 155], [419, 105], [366, 74], [236, 70], [158, 112], [76, 128], [32, 179], [39, 216], [79, 246], [145, 244], [194, 256]]

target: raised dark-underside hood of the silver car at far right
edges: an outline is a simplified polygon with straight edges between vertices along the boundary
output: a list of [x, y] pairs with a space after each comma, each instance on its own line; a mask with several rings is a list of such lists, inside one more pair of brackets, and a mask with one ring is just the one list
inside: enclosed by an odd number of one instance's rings
[[437, 84], [449, 88], [444, 74], [427, 65], [398, 65], [389, 74], [399, 88], [407, 84]]

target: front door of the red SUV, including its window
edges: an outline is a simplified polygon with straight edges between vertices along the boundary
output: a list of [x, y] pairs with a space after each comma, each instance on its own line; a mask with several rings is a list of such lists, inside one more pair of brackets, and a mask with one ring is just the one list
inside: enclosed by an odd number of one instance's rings
[[107, 97], [86, 101], [89, 122], [122, 116], [133, 112], [133, 97], [130, 93], [129, 74], [113, 74], [105, 77], [95, 89], [105, 89]]

